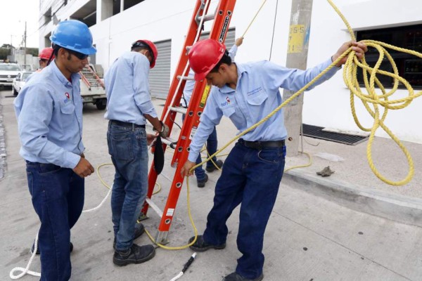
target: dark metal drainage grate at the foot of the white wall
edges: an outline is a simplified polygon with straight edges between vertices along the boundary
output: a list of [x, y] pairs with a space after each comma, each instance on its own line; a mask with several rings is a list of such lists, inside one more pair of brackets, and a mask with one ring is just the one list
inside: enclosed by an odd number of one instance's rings
[[345, 143], [346, 145], [357, 145], [368, 138], [367, 136], [356, 136], [347, 133], [335, 133], [331, 131], [323, 131], [324, 127], [302, 124], [303, 136], [311, 138], [319, 138], [326, 141], [334, 141], [335, 143]]

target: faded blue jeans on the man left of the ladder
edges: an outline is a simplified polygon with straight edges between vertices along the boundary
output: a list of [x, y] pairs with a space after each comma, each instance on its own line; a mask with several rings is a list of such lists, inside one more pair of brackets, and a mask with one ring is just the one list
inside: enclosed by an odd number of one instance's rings
[[136, 219], [148, 191], [148, 144], [143, 128], [109, 123], [108, 153], [115, 166], [111, 211], [116, 249], [132, 247]]

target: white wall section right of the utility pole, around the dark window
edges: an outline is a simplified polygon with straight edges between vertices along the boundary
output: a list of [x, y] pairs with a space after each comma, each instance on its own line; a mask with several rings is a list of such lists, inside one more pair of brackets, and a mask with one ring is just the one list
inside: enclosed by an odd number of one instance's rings
[[[418, 0], [381, 1], [361, 0], [348, 4], [348, 0], [336, 0], [354, 30], [367, 30], [373, 27], [392, 27], [422, 23]], [[388, 4], [387, 4], [388, 3]], [[316, 65], [335, 53], [340, 44], [350, 40], [347, 29], [327, 1], [314, 1], [312, 26], [309, 41], [308, 67]], [[419, 90], [420, 91], [420, 90]], [[407, 95], [398, 90], [398, 98]], [[396, 99], [394, 96], [391, 99]], [[356, 100], [359, 121], [371, 127], [373, 119], [360, 100]], [[416, 98], [402, 110], [390, 110], [385, 124], [403, 141], [422, 143], [422, 127], [416, 124], [421, 119], [422, 98]], [[303, 122], [316, 126], [333, 127], [350, 131], [360, 131], [354, 123], [350, 110], [350, 93], [345, 87], [343, 73], [338, 72], [330, 81], [305, 94]], [[388, 136], [379, 129], [376, 136]]]

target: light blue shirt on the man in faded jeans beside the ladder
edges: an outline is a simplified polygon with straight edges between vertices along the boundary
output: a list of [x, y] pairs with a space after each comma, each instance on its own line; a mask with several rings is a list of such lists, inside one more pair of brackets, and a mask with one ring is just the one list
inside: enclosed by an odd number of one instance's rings
[[144, 125], [144, 114], [157, 117], [149, 92], [149, 70], [148, 58], [139, 52], [126, 52], [115, 60], [104, 77], [107, 93], [104, 118]]

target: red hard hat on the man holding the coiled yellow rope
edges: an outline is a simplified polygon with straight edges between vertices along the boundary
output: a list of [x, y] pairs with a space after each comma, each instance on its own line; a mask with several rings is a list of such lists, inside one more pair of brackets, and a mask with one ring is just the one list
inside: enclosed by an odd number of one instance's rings
[[213, 39], [205, 39], [193, 44], [188, 58], [189, 65], [195, 72], [195, 80], [203, 80], [221, 60], [225, 51], [226, 46]]

